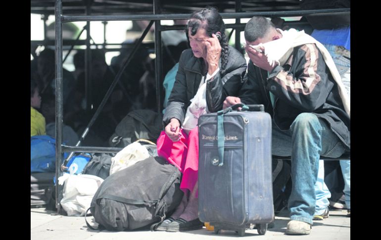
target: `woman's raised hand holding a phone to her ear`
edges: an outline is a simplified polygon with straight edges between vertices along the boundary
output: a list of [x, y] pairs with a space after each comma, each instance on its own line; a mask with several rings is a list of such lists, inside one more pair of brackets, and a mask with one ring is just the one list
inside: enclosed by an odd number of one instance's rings
[[206, 61], [208, 62], [208, 73], [212, 75], [218, 68], [222, 48], [215, 34], [212, 34], [212, 38], [208, 38], [205, 41], [205, 46]]

